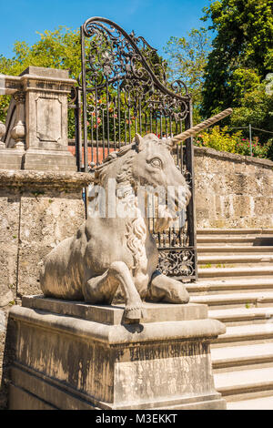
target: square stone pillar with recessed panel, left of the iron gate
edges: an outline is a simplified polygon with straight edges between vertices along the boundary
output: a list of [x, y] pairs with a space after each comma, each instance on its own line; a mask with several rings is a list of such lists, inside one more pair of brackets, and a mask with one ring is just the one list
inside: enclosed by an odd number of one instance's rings
[[29, 66], [21, 75], [25, 92], [24, 169], [76, 171], [68, 151], [67, 96], [75, 81], [67, 70]]

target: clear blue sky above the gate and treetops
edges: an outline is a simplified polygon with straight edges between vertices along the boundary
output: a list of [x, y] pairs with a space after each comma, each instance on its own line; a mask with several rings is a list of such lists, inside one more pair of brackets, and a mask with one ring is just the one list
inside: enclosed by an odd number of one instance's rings
[[209, 0], [0, 0], [0, 54], [13, 56], [15, 40], [32, 45], [36, 31], [58, 25], [78, 28], [91, 16], [104, 16], [137, 36], [147, 38], [162, 53], [170, 36], [187, 36]]

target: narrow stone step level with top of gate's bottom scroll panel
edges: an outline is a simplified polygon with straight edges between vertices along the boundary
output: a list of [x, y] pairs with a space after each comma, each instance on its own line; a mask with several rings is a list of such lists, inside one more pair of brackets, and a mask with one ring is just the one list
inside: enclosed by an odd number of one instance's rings
[[223, 254], [230, 255], [230, 254], [242, 254], [242, 255], [248, 255], [251, 254], [268, 254], [272, 256], [273, 253], [273, 247], [272, 246], [234, 246], [234, 245], [227, 245], [223, 244], [223, 246], [216, 246], [216, 247], [206, 247], [206, 246], [197, 246], [197, 254], [201, 256], [210, 255], [214, 253], [221, 253], [221, 256]]

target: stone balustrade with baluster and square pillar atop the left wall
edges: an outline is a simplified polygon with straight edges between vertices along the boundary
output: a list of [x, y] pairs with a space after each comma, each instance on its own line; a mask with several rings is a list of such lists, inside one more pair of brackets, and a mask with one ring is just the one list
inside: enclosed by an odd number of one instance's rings
[[76, 171], [67, 139], [67, 96], [75, 83], [67, 70], [36, 66], [1, 76], [0, 95], [12, 95], [0, 129], [1, 169]]

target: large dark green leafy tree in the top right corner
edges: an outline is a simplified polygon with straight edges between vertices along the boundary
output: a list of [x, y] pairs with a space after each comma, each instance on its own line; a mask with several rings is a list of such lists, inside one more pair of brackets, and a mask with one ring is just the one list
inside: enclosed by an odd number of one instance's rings
[[204, 8], [216, 36], [207, 57], [202, 113], [241, 107], [273, 69], [273, 0], [217, 0]]

